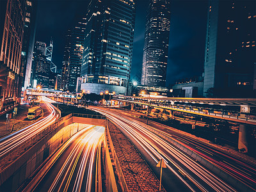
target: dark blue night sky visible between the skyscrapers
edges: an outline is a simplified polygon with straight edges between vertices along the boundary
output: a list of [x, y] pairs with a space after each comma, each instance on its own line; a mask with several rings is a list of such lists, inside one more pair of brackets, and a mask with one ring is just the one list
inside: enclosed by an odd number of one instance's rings
[[[36, 40], [50, 43], [52, 61], [62, 66], [65, 32], [86, 14], [89, 0], [38, 0]], [[207, 0], [171, 1], [171, 29], [166, 86], [202, 74]], [[131, 80], [140, 80], [148, 0], [136, 2]]]

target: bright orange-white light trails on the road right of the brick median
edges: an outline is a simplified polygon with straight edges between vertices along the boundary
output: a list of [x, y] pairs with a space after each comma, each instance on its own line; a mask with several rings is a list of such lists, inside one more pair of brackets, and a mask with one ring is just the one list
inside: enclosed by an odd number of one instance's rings
[[[208, 191], [209, 189], [213, 189], [214, 191], [236, 191], [234, 188], [223, 182], [223, 180], [216, 177], [214, 174], [209, 172], [206, 168], [201, 166], [199, 163], [195, 162], [194, 159], [189, 157], [187, 154], [184, 154], [181, 150], [173, 147], [171, 143], [164, 140], [163, 138], [153, 134], [148, 131], [141, 125], [138, 125], [131, 120], [127, 120], [124, 117], [116, 115], [115, 113], [111, 113], [110, 111], [105, 111], [103, 109], [93, 110], [102, 113], [102, 115], [108, 116], [111, 120], [113, 120], [116, 124], [120, 125], [122, 129], [127, 132], [136, 142], [141, 145], [144, 149], [147, 148], [147, 152], [150, 156], [154, 156], [154, 161], [157, 162], [163, 158], [169, 164], [173, 164], [178, 170], [188, 177], [191, 182], [193, 182], [200, 190]], [[166, 164], [166, 166], [173, 172], [171, 166]], [[196, 191], [191, 186], [189, 186], [188, 182], [186, 182], [179, 175], [180, 173], [173, 172], [179, 179], [186, 184], [192, 191]], [[179, 175], [179, 176], [178, 176]], [[209, 188], [210, 187], [210, 188]]]

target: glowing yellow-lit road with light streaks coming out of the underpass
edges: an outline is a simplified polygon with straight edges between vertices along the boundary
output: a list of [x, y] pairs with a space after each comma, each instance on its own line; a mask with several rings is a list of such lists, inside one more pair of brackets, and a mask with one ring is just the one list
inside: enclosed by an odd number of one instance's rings
[[95, 191], [97, 150], [104, 127], [88, 125], [70, 138], [23, 191]]

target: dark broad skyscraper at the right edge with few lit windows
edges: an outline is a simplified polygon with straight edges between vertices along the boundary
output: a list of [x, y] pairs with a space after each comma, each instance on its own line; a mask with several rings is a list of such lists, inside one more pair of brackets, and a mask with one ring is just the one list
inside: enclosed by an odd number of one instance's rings
[[255, 1], [209, 1], [204, 59], [206, 97], [255, 97]]

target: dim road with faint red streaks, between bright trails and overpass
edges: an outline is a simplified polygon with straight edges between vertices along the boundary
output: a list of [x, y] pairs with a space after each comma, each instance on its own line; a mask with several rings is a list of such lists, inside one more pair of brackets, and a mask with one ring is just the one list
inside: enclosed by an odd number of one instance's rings
[[[115, 113], [120, 113], [120, 111], [115, 110]], [[125, 112], [122, 114], [128, 115], [128, 113]], [[140, 122], [144, 122], [145, 124], [147, 122], [147, 120], [141, 118], [134, 119]], [[252, 161], [241, 158], [241, 156], [237, 156], [237, 154], [232, 154], [225, 150], [221, 150], [220, 148], [214, 147], [213, 145], [209, 145], [209, 143], [191, 138], [190, 135], [181, 134], [180, 132], [177, 132], [175, 129], [172, 129], [166, 125], [159, 124], [150, 120], [148, 121], [148, 125], [163, 132], [166, 134], [166, 136], [169, 136], [172, 139], [178, 141], [197, 154], [200, 154], [200, 156], [205, 157], [205, 159], [208, 159], [208, 161], [210, 161], [212, 164], [216, 164], [216, 166], [220, 167], [221, 170], [234, 176], [237, 180], [240, 180], [249, 188], [256, 191], [256, 164], [252, 163]]]

